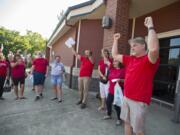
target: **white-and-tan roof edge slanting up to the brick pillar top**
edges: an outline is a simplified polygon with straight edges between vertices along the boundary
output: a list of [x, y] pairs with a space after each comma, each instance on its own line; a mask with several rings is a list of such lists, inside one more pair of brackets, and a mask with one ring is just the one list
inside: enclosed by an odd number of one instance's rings
[[59, 37], [70, 29], [70, 27], [66, 25], [66, 21], [68, 24], [74, 25], [81, 19], [100, 19], [104, 15], [104, 12], [104, 0], [90, 0], [69, 7], [50, 36], [47, 46], [51, 47]]

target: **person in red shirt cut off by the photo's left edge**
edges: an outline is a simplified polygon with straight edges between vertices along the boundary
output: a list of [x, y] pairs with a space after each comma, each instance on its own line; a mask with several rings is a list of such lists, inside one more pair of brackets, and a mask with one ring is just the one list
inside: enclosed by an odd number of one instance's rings
[[4, 100], [3, 98], [3, 86], [7, 76], [8, 71], [8, 63], [6, 62], [2, 53], [0, 53], [0, 100]]

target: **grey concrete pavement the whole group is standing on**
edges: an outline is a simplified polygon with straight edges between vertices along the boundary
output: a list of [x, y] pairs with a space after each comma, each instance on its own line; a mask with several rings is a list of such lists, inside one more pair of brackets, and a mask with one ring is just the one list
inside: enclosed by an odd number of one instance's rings
[[[88, 108], [81, 110], [75, 105], [78, 93], [64, 88], [64, 101], [50, 101], [52, 91], [46, 80], [44, 98], [34, 102], [35, 93], [27, 80], [26, 100], [14, 100], [14, 93], [5, 93], [0, 101], [0, 135], [123, 135], [123, 126], [115, 126], [113, 119], [102, 120], [105, 112], [98, 112], [98, 99], [89, 96]], [[180, 135], [180, 124], [171, 122], [173, 112], [150, 106], [146, 135]]]

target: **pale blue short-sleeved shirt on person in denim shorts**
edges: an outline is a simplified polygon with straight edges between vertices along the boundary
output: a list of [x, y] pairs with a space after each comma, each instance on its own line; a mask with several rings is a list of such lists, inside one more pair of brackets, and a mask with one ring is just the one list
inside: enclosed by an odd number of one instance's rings
[[61, 62], [53, 62], [51, 63], [51, 75], [62, 76], [65, 71], [64, 65]]

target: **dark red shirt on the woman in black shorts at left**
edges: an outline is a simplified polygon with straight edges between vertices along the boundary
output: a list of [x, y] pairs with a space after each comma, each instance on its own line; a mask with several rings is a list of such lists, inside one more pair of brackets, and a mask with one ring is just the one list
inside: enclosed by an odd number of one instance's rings
[[[11, 62], [14, 63], [14, 62]], [[11, 68], [11, 75], [12, 78], [20, 78], [25, 77], [25, 64], [24, 62], [16, 65], [15, 67]]]

